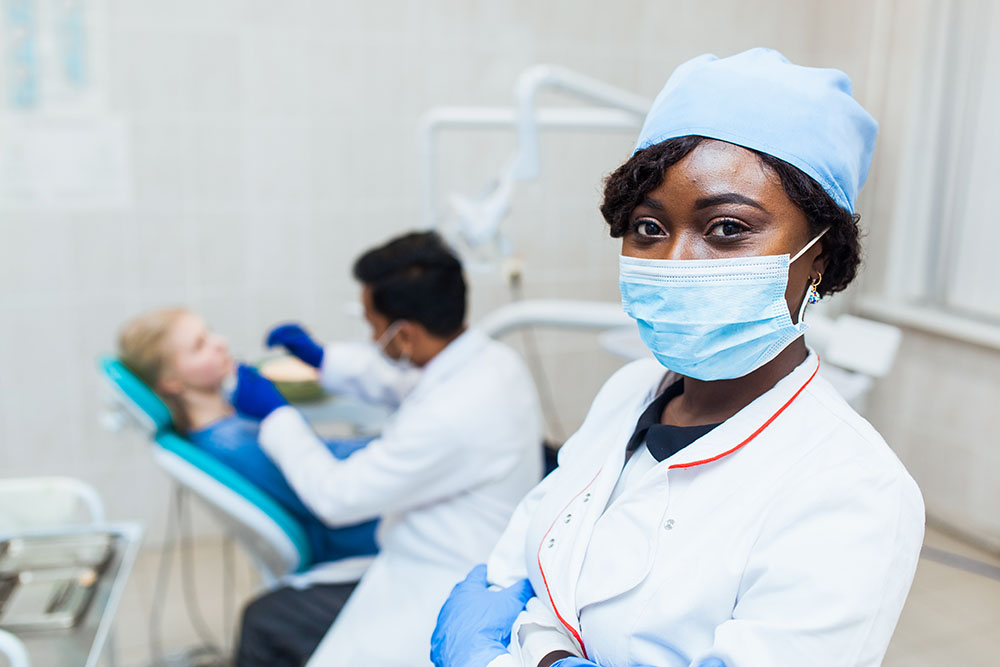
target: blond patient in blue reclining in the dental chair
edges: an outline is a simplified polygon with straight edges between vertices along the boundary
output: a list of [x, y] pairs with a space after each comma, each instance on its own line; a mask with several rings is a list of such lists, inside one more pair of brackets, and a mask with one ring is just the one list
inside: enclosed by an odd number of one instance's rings
[[[223, 384], [233, 373], [226, 339], [189, 310], [156, 310], [128, 322], [119, 357], [170, 408], [174, 427], [194, 445], [273, 497], [302, 524], [316, 562], [367, 556], [377, 551], [375, 521], [329, 528], [299, 500], [277, 466], [257, 444], [258, 422], [236, 414]], [[367, 440], [326, 443], [347, 458]]]

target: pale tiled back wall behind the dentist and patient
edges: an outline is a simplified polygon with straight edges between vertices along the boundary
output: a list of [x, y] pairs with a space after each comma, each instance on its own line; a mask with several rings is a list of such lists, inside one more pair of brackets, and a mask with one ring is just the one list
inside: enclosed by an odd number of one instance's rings
[[[129, 126], [125, 210], [0, 220], [0, 471], [98, 485], [114, 518], [160, 534], [165, 482], [142, 438], [97, 426], [96, 357], [141, 309], [186, 303], [261, 352], [302, 319], [323, 337], [364, 328], [351, 259], [418, 224], [416, 127], [440, 104], [506, 104], [538, 62], [652, 97], [682, 60], [754, 45], [846, 69], [863, 96], [873, 10], [822, 0], [109, 0], [110, 110]], [[616, 299], [615, 244], [596, 204], [629, 134], [545, 136], [543, 172], [508, 231], [528, 296]], [[512, 148], [448, 135], [441, 177], [473, 192]], [[472, 313], [505, 299], [471, 276]], [[618, 363], [584, 336], [541, 337], [570, 429]]]

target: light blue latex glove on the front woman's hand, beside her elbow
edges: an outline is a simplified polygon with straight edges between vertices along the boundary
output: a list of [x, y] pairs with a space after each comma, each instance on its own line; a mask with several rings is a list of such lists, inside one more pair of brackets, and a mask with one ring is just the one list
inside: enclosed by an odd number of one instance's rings
[[486, 667], [507, 652], [514, 619], [534, 594], [527, 579], [491, 591], [486, 566], [472, 568], [441, 607], [431, 636], [431, 662], [436, 667]]

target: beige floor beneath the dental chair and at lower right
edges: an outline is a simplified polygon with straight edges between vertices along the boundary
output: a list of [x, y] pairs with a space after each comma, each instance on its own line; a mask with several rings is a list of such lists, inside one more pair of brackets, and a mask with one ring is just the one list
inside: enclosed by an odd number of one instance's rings
[[[194, 577], [181, 577], [174, 558], [170, 585], [163, 600], [165, 664], [182, 664], [185, 649], [204, 643], [186, 610], [182, 585], [193, 583], [206, 627], [202, 634], [217, 646], [231, 646], [240, 603], [253, 592], [256, 579], [238, 549], [224, 556], [218, 541], [201, 541], [185, 552]], [[971, 547], [945, 533], [928, 529], [926, 557], [921, 559], [909, 600], [889, 652], [886, 667], [978, 667], [1000, 665], [1000, 556]], [[150, 615], [160, 552], [146, 550], [136, 563], [118, 617], [119, 667], [154, 664]], [[953, 561], [943, 564], [940, 560]], [[970, 568], [976, 572], [969, 572]], [[229, 573], [229, 578], [223, 576]], [[225, 582], [229, 582], [226, 584]], [[225, 586], [230, 588], [227, 591]]]

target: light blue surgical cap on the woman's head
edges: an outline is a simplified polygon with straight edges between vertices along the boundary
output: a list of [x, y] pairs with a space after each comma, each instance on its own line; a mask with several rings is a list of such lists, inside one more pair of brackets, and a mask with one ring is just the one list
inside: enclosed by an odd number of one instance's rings
[[819, 183], [854, 212], [878, 123], [840, 70], [794, 65], [771, 49], [689, 60], [656, 96], [636, 151], [697, 135], [767, 153]]

